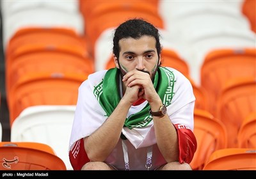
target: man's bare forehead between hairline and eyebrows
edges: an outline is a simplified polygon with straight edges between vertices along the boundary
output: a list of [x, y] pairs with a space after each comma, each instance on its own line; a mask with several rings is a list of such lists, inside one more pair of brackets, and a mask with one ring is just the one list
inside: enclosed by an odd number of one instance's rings
[[120, 52], [140, 52], [156, 49], [156, 39], [153, 36], [141, 36], [140, 38], [122, 38], [119, 41]]

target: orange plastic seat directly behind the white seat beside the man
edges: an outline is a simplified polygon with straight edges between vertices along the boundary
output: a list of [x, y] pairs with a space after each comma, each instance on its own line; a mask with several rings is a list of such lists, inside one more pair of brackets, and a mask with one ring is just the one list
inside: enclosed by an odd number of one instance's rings
[[81, 74], [35, 73], [23, 75], [9, 95], [10, 126], [21, 111], [33, 105], [76, 105]]

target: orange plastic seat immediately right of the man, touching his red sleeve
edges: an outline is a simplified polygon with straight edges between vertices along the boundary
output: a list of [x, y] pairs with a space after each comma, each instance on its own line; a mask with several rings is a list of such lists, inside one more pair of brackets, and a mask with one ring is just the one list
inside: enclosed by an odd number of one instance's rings
[[220, 120], [204, 110], [195, 109], [194, 121], [197, 149], [190, 166], [201, 170], [211, 153], [227, 147], [227, 130]]

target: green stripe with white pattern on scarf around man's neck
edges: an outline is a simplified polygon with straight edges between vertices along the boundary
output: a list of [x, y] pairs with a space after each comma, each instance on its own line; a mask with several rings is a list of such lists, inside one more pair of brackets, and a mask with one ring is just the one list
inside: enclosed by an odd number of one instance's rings
[[[118, 69], [111, 68], [93, 90], [107, 116], [113, 113], [120, 102], [119, 77]], [[154, 88], [166, 106], [170, 105], [172, 100], [174, 82], [173, 73], [167, 68], [159, 67], [154, 78]], [[126, 118], [124, 126], [128, 128], [147, 126], [152, 120], [152, 116], [148, 113], [149, 108], [149, 104], [147, 104], [140, 112]]]

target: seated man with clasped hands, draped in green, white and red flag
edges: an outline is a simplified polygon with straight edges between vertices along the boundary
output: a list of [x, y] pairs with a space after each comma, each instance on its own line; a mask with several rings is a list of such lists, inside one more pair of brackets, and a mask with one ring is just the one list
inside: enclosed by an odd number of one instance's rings
[[195, 97], [189, 80], [161, 67], [159, 32], [127, 20], [113, 38], [116, 68], [79, 87], [70, 137], [74, 169], [191, 169]]

